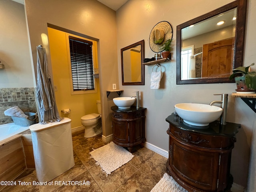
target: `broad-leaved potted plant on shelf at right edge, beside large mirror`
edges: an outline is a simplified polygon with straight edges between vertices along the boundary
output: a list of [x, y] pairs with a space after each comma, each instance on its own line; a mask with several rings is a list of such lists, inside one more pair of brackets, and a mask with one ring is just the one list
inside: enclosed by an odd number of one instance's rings
[[[252, 63], [250, 66], [253, 66]], [[250, 66], [238, 67], [233, 70], [233, 74], [230, 75], [229, 79], [235, 79], [236, 91], [237, 92], [255, 92], [256, 90], [256, 72], [249, 71]]]

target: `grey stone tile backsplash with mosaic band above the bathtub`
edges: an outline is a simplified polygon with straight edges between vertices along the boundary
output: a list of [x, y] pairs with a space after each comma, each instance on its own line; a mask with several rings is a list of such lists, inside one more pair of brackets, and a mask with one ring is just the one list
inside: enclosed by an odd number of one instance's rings
[[14, 106], [23, 112], [36, 112], [34, 88], [0, 88], [0, 124], [13, 122], [10, 116], [4, 115], [4, 111]]

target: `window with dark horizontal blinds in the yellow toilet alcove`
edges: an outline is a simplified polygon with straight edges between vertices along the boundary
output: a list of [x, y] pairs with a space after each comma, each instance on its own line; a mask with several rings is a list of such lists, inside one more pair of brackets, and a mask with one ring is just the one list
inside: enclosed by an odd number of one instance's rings
[[73, 91], [94, 90], [92, 42], [69, 36]]

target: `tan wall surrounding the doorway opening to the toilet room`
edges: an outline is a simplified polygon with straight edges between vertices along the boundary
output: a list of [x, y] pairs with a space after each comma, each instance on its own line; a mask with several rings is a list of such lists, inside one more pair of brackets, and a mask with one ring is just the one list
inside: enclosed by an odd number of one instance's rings
[[[112, 84], [118, 88], [116, 12], [96, 0], [25, 0], [31, 49], [36, 65], [36, 46], [46, 48], [48, 63], [51, 65], [49, 45], [44, 43], [41, 34], [46, 34], [47, 23], [98, 39], [98, 63], [100, 99], [102, 102], [103, 135], [112, 134], [110, 107], [106, 90]], [[57, 101], [58, 102], [58, 101]]]

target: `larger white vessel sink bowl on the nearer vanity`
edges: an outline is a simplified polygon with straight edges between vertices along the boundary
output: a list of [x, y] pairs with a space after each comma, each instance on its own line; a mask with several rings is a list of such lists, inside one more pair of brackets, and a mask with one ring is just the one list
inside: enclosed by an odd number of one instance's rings
[[174, 108], [185, 123], [194, 126], [208, 126], [222, 114], [222, 108], [207, 104], [179, 103]]

